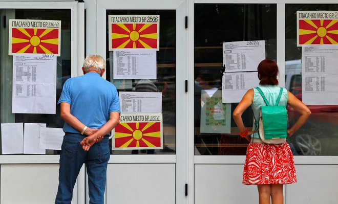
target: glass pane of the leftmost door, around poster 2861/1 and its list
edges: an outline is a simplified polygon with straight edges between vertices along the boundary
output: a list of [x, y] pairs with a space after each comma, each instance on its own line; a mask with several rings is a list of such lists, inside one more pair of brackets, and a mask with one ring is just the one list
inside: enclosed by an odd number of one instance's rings
[[[57, 57], [56, 79], [56, 114], [12, 114], [12, 73], [13, 57], [8, 55], [8, 35], [1, 38], [1, 123], [46, 123], [47, 127], [62, 128], [64, 121], [60, 118], [58, 101], [62, 85], [71, 76], [71, 10], [69, 9], [8, 9], [2, 13], [11, 19], [44, 19], [61, 20], [61, 56]], [[12, 17], [13, 16], [13, 17]], [[8, 26], [3, 32], [8, 34]], [[4, 33], [5, 34], [5, 33]], [[5, 35], [4, 35], [5, 36]], [[7, 42], [7, 43], [6, 43]], [[58, 154], [58, 151], [46, 150], [47, 154]]]

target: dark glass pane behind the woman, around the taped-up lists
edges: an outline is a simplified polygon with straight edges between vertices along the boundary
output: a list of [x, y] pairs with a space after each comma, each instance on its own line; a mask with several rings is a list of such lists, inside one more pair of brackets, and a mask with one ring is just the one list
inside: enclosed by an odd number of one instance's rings
[[[221, 87], [222, 42], [265, 40], [266, 57], [276, 60], [276, 13], [276, 4], [195, 4], [196, 155], [245, 155], [248, 142], [235, 133], [232, 117], [231, 133], [201, 133], [203, 96], [212, 97]], [[236, 106], [231, 104], [231, 114]], [[245, 126], [252, 126], [252, 117], [249, 108]]]

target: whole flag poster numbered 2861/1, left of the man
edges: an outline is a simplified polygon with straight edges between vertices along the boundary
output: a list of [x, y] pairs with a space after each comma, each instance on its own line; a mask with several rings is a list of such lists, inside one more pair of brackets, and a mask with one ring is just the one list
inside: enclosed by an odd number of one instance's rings
[[61, 21], [9, 19], [9, 55], [14, 53], [60, 56]]

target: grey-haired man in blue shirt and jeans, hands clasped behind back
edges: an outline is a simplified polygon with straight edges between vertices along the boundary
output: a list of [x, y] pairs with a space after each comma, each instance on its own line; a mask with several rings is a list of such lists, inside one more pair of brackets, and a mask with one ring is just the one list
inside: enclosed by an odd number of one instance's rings
[[[110, 158], [109, 134], [119, 123], [116, 87], [102, 79], [105, 61], [91, 55], [83, 62], [84, 76], [68, 79], [58, 101], [65, 121], [55, 203], [70, 203], [77, 175], [86, 163], [90, 203], [102, 203]], [[86, 137], [87, 135], [87, 137]]]

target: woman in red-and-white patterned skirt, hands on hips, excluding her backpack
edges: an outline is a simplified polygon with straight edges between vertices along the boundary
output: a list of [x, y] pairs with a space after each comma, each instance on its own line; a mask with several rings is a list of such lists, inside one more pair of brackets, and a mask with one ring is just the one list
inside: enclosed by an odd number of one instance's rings
[[[258, 65], [259, 87], [270, 105], [274, 105], [280, 92], [277, 75], [278, 66], [276, 62], [265, 59]], [[297, 122], [287, 130], [289, 137], [291, 137], [306, 122], [311, 115], [311, 111], [285, 88], [283, 88], [279, 104], [289, 104], [301, 115]], [[297, 182], [290, 146], [287, 142], [282, 144], [263, 143], [258, 132], [254, 131], [256, 129], [255, 124], [252, 125], [254, 128], [248, 131], [242, 120], [242, 114], [249, 106], [254, 110], [255, 118], [259, 118], [260, 108], [265, 105], [258, 90], [252, 88], [246, 92], [233, 113], [241, 137], [250, 142], [246, 152], [243, 184], [257, 185], [260, 204], [270, 203], [270, 199], [272, 204], [282, 204], [284, 200], [283, 185]]]

